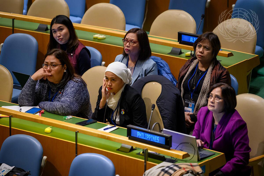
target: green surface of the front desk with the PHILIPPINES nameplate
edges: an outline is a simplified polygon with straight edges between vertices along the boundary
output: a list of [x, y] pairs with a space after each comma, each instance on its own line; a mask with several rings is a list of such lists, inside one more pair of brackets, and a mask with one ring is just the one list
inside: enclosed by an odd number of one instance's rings
[[[7, 102], [2, 102], [0, 101], [0, 107], [2, 106], [15, 106], [16, 104], [11, 104], [11, 103], [7, 103]], [[63, 116], [60, 115], [56, 115], [56, 114], [52, 114], [49, 112], [44, 112], [43, 117], [48, 117], [48, 118], [52, 118], [55, 120], [60, 120], [60, 121], [64, 121]], [[68, 123], [77, 123], [77, 122], [81, 122], [84, 119], [81, 118], [71, 118], [69, 120], [67, 120], [66, 122]], [[0, 119], [0, 125], [4, 125], [4, 126], [9, 126], [9, 118], [1, 118]], [[90, 125], [87, 125], [87, 127], [89, 128], [93, 128], [93, 129], [100, 129], [104, 126], [107, 126], [107, 124], [104, 123], [92, 123]], [[59, 139], [63, 139], [63, 140], [67, 140], [67, 141], [71, 141], [71, 142], [75, 142], [75, 132], [73, 131], [69, 131], [69, 130], [64, 130], [64, 129], [60, 129], [57, 127], [52, 127], [52, 131], [51, 133], [45, 133], [44, 129], [46, 127], [48, 127], [48, 125], [44, 125], [41, 123], [36, 123], [36, 122], [31, 122], [31, 121], [27, 121], [27, 120], [22, 120], [19, 118], [12, 118], [12, 127], [13, 128], [17, 128], [17, 129], [21, 129], [21, 130], [25, 130], [25, 131], [30, 131], [30, 132], [34, 132], [37, 134], [41, 134], [41, 135], [45, 135], [45, 136], [50, 136], [50, 137], [55, 137], [55, 138], [59, 138]], [[114, 134], [118, 134], [121, 136], [126, 136], [126, 129], [123, 128], [118, 128], [114, 131], [112, 131], [111, 133]], [[121, 144], [118, 142], [113, 142], [110, 140], [106, 140], [106, 139], [101, 139], [98, 137], [93, 137], [93, 136], [89, 136], [89, 135], [85, 135], [85, 134], [78, 134], [78, 143], [79, 144], [84, 144], [84, 145], [88, 145], [88, 146], [92, 146], [95, 148], [99, 148], [99, 149], [103, 149], [103, 150], [107, 150], [107, 151], [111, 151], [114, 153], [118, 153], [118, 154], [122, 154], [122, 155], [126, 155], [126, 156], [131, 156], [133, 158], [137, 158], [137, 159], [142, 159], [144, 160], [144, 156], [140, 156], [137, 155], [136, 153], [139, 153], [140, 151], [142, 151], [142, 149], [136, 149], [130, 153], [124, 153], [121, 151], [117, 151], [116, 149], [120, 148]], [[191, 155], [191, 154], [190, 154]], [[214, 155], [199, 161], [203, 162], [205, 160], [214, 158], [215, 156], [220, 155], [220, 153], [215, 152]], [[169, 158], [169, 156], [166, 156], [166, 158]], [[153, 162], [153, 163], [161, 163], [162, 161], [159, 160], [155, 160], [152, 158], [149, 158], [148, 161]], [[179, 161], [180, 162], [180, 161]], [[181, 161], [181, 162], [186, 162], [186, 161]], [[187, 161], [187, 162], [193, 162], [193, 161]]]

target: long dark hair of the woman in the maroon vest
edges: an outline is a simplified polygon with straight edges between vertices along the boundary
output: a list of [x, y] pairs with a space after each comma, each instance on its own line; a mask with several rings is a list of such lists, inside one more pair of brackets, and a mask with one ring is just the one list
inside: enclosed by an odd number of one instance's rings
[[50, 41], [48, 44], [48, 51], [52, 50], [54, 48], [58, 48], [59, 43], [54, 39], [52, 34], [52, 26], [54, 24], [63, 24], [65, 25], [70, 33], [69, 41], [67, 42], [67, 53], [70, 53], [72, 51], [75, 51], [78, 47], [78, 37], [76, 35], [76, 32], [74, 30], [72, 21], [70, 21], [70, 18], [68, 18], [65, 15], [57, 15], [55, 18], [52, 19], [50, 23]]

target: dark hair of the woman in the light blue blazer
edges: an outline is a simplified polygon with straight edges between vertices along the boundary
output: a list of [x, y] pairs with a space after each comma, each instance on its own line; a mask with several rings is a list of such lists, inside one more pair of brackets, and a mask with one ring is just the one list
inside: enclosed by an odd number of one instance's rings
[[[129, 33], [136, 33], [136, 37], [138, 38], [139, 41], [139, 55], [138, 59], [139, 60], [146, 60], [151, 56], [151, 49], [149, 45], [149, 40], [148, 40], [148, 34], [145, 32], [143, 29], [140, 28], [132, 28], [130, 29], [126, 35]], [[126, 38], [126, 35], [124, 39]], [[125, 50], [123, 50], [123, 55], [127, 56]]]

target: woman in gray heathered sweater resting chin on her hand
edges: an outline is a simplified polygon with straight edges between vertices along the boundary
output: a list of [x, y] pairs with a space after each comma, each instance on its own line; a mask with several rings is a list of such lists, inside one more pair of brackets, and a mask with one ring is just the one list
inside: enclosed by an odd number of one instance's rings
[[65, 51], [48, 51], [42, 66], [23, 87], [18, 97], [19, 106], [39, 106], [59, 115], [91, 118], [86, 83], [74, 73]]

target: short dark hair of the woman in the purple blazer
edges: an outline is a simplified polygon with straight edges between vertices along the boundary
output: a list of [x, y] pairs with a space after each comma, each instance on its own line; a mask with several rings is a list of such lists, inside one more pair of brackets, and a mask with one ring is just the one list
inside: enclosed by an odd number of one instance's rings
[[225, 83], [217, 83], [210, 87], [208, 95], [215, 89], [221, 88], [222, 97], [224, 99], [224, 112], [231, 112], [237, 106], [237, 97], [235, 95], [235, 90], [228, 84]]

